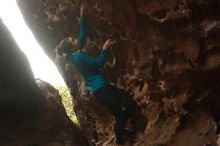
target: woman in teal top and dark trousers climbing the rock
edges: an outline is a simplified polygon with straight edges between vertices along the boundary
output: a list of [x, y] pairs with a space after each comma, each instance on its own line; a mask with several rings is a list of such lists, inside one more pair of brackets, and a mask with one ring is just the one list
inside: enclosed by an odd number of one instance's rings
[[86, 37], [85, 5], [80, 9], [80, 33], [77, 39], [65, 38], [57, 46], [59, 55], [69, 56], [69, 61], [85, 80], [94, 97], [115, 117], [115, 135], [118, 145], [124, 144], [125, 125], [135, 109], [135, 102], [126, 92], [112, 86], [104, 76], [102, 69], [111, 48], [112, 41], [106, 40], [98, 58], [86, 54], [82, 49]]

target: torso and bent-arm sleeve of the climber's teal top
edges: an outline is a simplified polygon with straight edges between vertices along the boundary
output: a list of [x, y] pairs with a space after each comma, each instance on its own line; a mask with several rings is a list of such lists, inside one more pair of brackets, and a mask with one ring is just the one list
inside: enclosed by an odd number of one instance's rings
[[89, 56], [82, 51], [78, 51], [71, 55], [72, 63], [93, 93], [108, 84], [102, 72], [106, 57], [107, 52], [103, 49], [97, 58]]

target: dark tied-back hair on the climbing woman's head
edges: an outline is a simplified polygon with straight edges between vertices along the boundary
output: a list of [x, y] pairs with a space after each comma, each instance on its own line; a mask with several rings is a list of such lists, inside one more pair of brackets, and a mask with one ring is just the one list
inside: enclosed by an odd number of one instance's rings
[[68, 38], [63, 39], [60, 44], [56, 47], [57, 53], [59, 55], [71, 54], [74, 51], [72, 50], [73, 46], [70, 44]]

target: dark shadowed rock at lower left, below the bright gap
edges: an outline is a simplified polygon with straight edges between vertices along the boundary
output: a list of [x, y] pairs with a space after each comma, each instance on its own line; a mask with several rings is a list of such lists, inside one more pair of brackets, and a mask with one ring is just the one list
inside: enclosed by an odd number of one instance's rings
[[56, 89], [38, 80], [0, 22], [0, 145], [87, 146]]

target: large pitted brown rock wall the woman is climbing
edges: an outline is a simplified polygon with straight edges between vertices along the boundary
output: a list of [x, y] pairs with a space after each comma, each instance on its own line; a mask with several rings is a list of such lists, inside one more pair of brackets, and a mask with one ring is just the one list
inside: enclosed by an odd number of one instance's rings
[[[51, 58], [59, 41], [77, 35], [82, 1], [17, 2]], [[219, 0], [89, 0], [87, 4], [85, 47], [95, 56], [106, 38], [117, 41], [105, 73], [110, 83], [133, 94], [139, 107], [139, 127], [128, 143], [217, 145]], [[112, 116], [96, 102], [71, 65], [61, 60], [59, 66], [90, 143], [112, 145]]]

